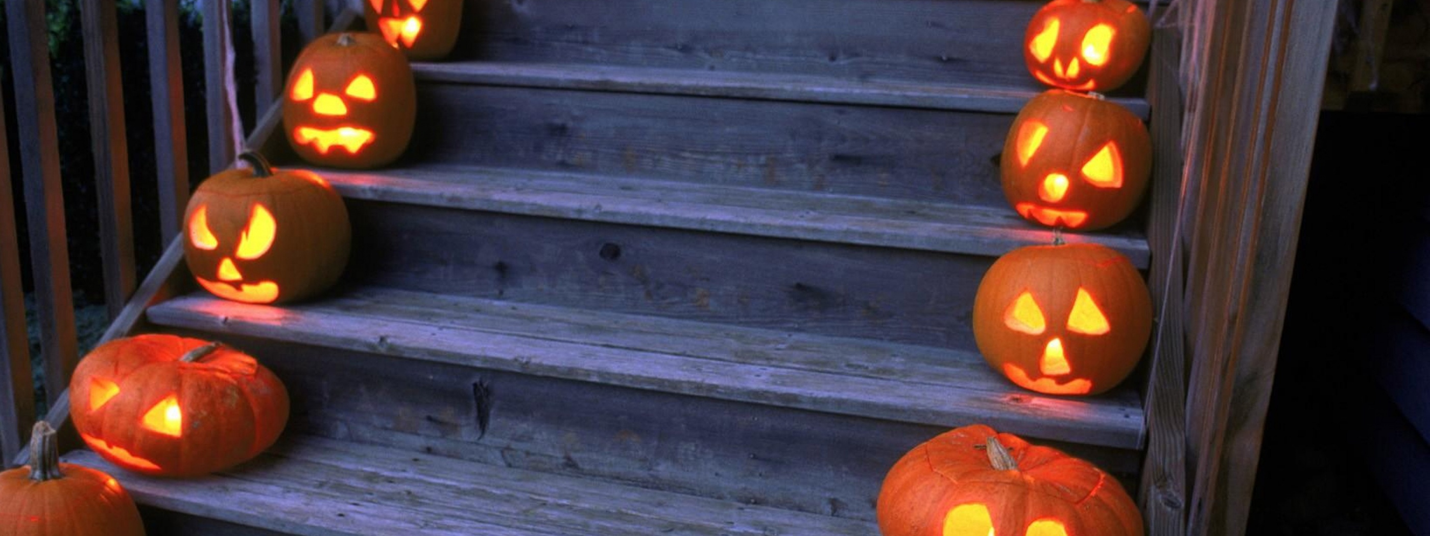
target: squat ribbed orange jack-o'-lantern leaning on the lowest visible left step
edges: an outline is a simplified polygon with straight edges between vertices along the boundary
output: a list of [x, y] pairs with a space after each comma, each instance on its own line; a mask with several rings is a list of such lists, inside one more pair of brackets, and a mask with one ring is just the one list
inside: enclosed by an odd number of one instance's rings
[[257, 456], [287, 423], [287, 390], [217, 343], [140, 334], [100, 344], [70, 379], [74, 429], [106, 460], [146, 475], [199, 476]]

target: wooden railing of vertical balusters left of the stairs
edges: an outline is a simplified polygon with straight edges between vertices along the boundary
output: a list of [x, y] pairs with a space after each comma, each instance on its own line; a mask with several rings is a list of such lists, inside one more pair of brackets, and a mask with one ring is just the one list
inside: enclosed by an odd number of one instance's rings
[[[10, 157], [6, 126], [13, 121], [19, 137], [20, 182], [24, 192], [24, 217], [29, 229], [30, 272], [33, 274], [34, 314], [40, 334], [44, 367], [44, 393], [49, 405], [46, 420], [59, 425], [69, 413], [64, 399], [70, 372], [79, 362], [70, 260], [66, 250], [64, 193], [60, 183], [60, 146], [56, 126], [56, 97], [50, 76], [49, 29], [44, 1], [6, 1], [7, 40], [10, 44], [11, 89], [0, 87], [0, 97], [14, 94], [16, 116], [4, 117], [0, 109], [0, 460], [19, 463], [20, 446], [36, 415], [33, 370], [26, 334], [24, 290], [21, 287], [20, 242], [16, 200], [11, 196]], [[233, 160], [235, 121], [229, 106], [225, 73], [229, 71], [227, 46], [230, 26], [225, 13], [229, 0], [202, 0], [204, 87], [209, 130], [209, 170], [227, 167]], [[283, 84], [279, 0], [250, 0], [255, 56], [255, 110], [269, 110]], [[323, 0], [295, 0], [303, 41], [323, 29]], [[104, 304], [112, 320], [100, 342], [129, 334], [140, 322], [143, 307], [172, 292], [164, 280], [137, 284], [134, 233], [160, 233], [169, 244], [153, 273], [172, 273], [182, 263], [183, 249], [176, 237], [190, 189], [189, 144], [183, 103], [183, 66], [179, 56], [179, 0], [144, 0], [146, 40], [149, 49], [149, 90], [153, 101], [154, 169], [157, 182], [159, 229], [133, 227], [133, 203], [129, 180], [129, 147], [124, 137], [124, 94], [120, 83], [119, 29], [113, 0], [82, 0], [80, 27], [84, 49], [84, 74], [89, 90], [92, 149], [94, 154], [94, 190], [99, 197], [99, 227]], [[236, 31], [236, 29], [235, 29]], [[300, 43], [290, 43], [297, 47]], [[270, 114], [272, 116], [272, 114]], [[272, 127], [272, 117], [255, 130]], [[252, 137], [250, 137], [252, 139]], [[86, 177], [87, 179], [87, 177]]]

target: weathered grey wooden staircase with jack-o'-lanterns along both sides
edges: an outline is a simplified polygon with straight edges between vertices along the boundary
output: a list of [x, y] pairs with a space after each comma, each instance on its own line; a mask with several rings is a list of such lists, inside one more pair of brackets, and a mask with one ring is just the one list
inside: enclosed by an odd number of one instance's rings
[[[1040, 6], [469, 1], [405, 157], [316, 170], [337, 289], [147, 310], [273, 369], [285, 439], [196, 480], [66, 457], [206, 535], [877, 535], [888, 467], [968, 423], [1134, 473], [1141, 380], [1025, 392], [970, 327], [994, 259], [1052, 237], [997, 170]], [[1148, 264], [1135, 222], [1067, 239]]]

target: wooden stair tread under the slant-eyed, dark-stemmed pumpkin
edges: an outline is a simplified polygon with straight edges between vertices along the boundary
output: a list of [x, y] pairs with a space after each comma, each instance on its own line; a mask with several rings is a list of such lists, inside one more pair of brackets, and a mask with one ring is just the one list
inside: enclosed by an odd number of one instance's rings
[[204, 293], [149, 310], [162, 326], [686, 396], [1138, 449], [1137, 393], [1021, 390], [978, 354], [386, 289], [286, 307]]

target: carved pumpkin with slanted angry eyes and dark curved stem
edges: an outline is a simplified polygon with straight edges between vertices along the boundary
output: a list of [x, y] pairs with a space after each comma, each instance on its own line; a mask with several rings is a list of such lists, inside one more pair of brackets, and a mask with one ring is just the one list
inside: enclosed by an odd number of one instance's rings
[[239, 159], [249, 167], [220, 172], [189, 197], [183, 256], [199, 286], [235, 302], [285, 303], [336, 283], [352, 244], [342, 196], [312, 172]]

